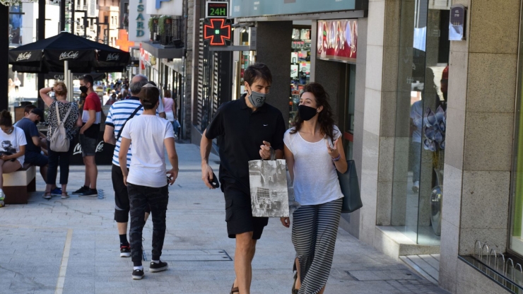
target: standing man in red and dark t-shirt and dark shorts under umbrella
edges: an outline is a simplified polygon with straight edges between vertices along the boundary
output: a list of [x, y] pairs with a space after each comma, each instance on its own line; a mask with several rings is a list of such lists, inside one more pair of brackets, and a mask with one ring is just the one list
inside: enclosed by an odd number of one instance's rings
[[82, 148], [83, 164], [86, 165], [86, 180], [83, 187], [73, 192], [78, 196], [98, 196], [96, 179], [98, 167], [96, 167], [95, 155], [100, 132], [100, 120], [102, 118], [102, 103], [98, 94], [93, 90], [93, 77], [86, 74], [80, 78], [80, 90], [86, 93], [86, 102], [83, 104], [82, 122], [80, 129], [80, 146]]

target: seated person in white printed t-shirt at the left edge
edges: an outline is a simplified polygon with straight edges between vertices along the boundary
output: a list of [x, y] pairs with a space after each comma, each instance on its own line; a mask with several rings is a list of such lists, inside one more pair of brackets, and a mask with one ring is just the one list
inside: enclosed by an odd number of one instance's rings
[[23, 130], [13, 126], [11, 112], [0, 112], [0, 200], [4, 193], [4, 174], [16, 172], [23, 167], [25, 158], [25, 135]]

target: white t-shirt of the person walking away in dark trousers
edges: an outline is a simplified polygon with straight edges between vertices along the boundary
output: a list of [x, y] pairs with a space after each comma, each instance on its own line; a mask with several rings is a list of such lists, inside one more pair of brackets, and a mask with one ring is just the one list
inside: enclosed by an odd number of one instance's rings
[[153, 188], [167, 185], [163, 141], [175, 137], [172, 124], [155, 115], [141, 114], [129, 119], [122, 137], [131, 139], [133, 145], [127, 182]]

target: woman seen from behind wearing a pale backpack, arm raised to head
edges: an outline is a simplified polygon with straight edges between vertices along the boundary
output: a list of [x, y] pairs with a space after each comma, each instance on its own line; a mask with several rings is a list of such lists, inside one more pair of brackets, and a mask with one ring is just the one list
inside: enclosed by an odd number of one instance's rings
[[[49, 96], [49, 92], [54, 91], [56, 100]], [[76, 135], [77, 127], [82, 126], [82, 119], [78, 115], [78, 105], [67, 100], [67, 87], [65, 83], [57, 82], [53, 87], [40, 89], [40, 97], [49, 107], [47, 121], [47, 144], [49, 153], [49, 168], [47, 170], [47, 182], [57, 181], [58, 165], [60, 166], [61, 198], [69, 198], [67, 194], [67, 181], [69, 180], [69, 158], [74, 146], [71, 143]], [[55, 132], [61, 131], [62, 125], [65, 129], [65, 136], [53, 136]], [[57, 140], [60, 140], [57, 142]], [[64, 141], [69, 140], [69, 141]], [[69, 144], [69, 148], [65, 148]], [[54, 147], [53, 147], [54, 146]], [[59, 147], [59, 148], [58, 148]], [[55, 149], [55, 151], [52, 150]], [[51, 199], [52, 184], [45, 187], [45, 199]]]

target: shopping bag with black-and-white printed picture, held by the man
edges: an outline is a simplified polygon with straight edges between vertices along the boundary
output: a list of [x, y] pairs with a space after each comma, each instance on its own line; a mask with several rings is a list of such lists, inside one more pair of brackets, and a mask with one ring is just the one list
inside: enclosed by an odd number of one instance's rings
[[289, 216], [287, 165], [285, 160], [249, 161], [252, 216]]

